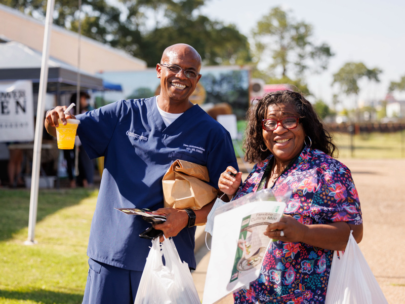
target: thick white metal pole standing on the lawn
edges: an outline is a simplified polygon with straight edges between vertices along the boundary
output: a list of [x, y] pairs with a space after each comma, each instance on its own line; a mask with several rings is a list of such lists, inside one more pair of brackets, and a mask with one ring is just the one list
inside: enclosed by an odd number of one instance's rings
[[29, 199], [28, 240], [25, 242], [26, 245], [32, 245], [36, 243], [34, 241], [34, 237], [35, 237], [36, 211], [38, 207], [39, 169], [41, 168], [42, 133], [44, 131], [45, 96], [47, 93], [47, 85], [48, 85], [49, 47], [50, 47], [54, 7], [55, 7], [55, 0], [49, 0], [47, 4], [47, 16], [45, 19], [41, 76], [39, 78], [38, 104], [36, 108], [35, 137], [34, 137], [34, 149], [32, 157], [33, 160], [32, 160], [32, 175], [31, 175], [32, 181], [31, 196]]

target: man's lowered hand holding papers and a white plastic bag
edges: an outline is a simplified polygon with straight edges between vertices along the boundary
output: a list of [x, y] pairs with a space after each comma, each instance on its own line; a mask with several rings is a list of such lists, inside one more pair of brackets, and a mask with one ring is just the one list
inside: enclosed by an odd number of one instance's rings
[[[154, 224], [154, 229], [163, 231], [166, 238], [175, 237], [178, 233], [187, 226], [188, 214], [184, 210], [174, 208], [160, 208], [153, 211], [154, 214], [166, 214], [166, 221], [161, 224]], [[163, 242], [163, 236], [160, 237], [160, 242]]]

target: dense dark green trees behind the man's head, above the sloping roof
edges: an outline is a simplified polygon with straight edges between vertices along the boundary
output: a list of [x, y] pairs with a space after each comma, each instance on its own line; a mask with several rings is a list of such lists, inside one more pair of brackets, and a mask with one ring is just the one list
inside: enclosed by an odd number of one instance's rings
[[[0, 0], [0, 3], [45, 19], [46, 1]], [[175, 43], [193, 46], [209, 65], [246, 64], [251, 61], [248, 39], [234, 25], [212, 21], [198, 14], [204, 0], [120, 0], [119, 6], [106, 0], [55, 3], [54, 23], [78, 31], [155, 66], [165, 48]], [[115, 4], [117, 5], [117, 4]], [[155, 23], [150, 25], [150, 20]], [[153, 23], [153, 22], [152, 22]]]

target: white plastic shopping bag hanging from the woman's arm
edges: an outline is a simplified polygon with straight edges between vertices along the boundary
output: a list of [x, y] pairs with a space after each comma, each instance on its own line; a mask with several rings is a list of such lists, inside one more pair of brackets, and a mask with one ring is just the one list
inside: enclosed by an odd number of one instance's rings
[[340, 259], [334, 252], [325, 304], [388, 304], [352, 232]]

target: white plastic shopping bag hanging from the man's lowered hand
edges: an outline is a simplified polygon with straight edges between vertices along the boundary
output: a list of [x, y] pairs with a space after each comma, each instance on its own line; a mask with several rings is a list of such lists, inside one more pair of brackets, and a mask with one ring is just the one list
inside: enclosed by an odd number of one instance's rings
[[180, 260], [172, 239], [161, 243], [152, 240], [134, 304], [200, 304], [197, 290], [186, 262]]

